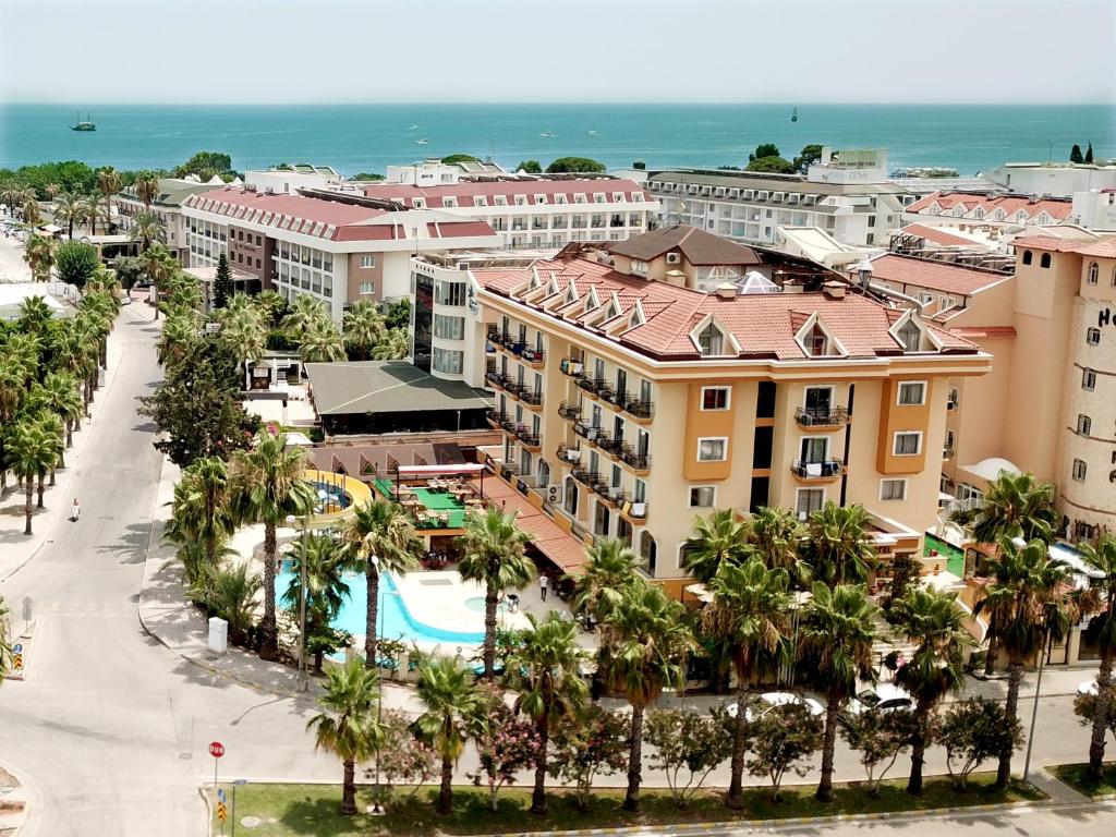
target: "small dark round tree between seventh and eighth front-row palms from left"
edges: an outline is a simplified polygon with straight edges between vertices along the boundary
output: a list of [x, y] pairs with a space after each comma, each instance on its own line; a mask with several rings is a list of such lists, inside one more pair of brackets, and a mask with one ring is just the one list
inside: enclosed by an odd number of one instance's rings
[[1022, 740], [1019, 720], [985, 698], [954, 703], [942, 719], [939, 733], [939, 741], [945, 748], [950, 779], [961, 790], [973, 770], [1006, 750], [1014, 750]]

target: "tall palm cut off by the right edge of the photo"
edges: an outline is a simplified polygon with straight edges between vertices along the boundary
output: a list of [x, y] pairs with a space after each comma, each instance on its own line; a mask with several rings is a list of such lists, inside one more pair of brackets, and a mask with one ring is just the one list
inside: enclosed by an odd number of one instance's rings
[[1081, 559], [1099, 575], [1093, 579], [1090, 605], [1100, 612], [1093, 617], [1089, 629], [1097, 629], [1097, 703], [1093, 713], [1093, 735], [1089, 739], [1089, 775], [1097, 781], [1104, 775], [1106, 721], [1113, 711], [1113, 657], [1116, 656], [1116, 536], [1101, 535], [1096, 543], [1081, 545]]

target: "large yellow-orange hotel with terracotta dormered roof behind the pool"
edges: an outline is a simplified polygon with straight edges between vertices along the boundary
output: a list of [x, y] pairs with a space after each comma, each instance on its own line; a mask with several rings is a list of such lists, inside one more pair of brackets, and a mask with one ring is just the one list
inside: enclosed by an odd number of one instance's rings
[[[885, 558], [917, 550], [947, 383], [985, 374], [988, 355], [831, 275], [703, 292], [613, 259], [415, 260], [451, 374], [496, 394], [499, 468], [555, 522], [629, 540], [675, 586], [693, 518], [714, 508], [859, 502]], [[433, 374], [450, 345], [435, 341]]]

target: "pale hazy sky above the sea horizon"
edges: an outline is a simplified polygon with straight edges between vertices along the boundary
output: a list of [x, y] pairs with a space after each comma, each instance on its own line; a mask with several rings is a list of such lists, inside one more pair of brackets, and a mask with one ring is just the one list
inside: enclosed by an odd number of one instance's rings
[[1114, 42], [1116, 0], [0, 0], [0, 100], [1112, 103]]

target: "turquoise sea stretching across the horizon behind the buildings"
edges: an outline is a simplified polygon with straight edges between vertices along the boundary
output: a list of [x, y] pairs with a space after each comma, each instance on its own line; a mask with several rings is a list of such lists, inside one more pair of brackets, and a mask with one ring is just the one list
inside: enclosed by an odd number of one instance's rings
[[799, 105], [797, 123], [791, 105], [94, 105], [83, 106], [83, 118], [86, 109], [96, 133], [68, 129], [73, 106], [0, 105], [0, 167], [51, 160], [165, 167], [201, 150], [231, 154], [238, 170], [315, 162], [343, 174], [454, 152], [506, 165], [574, 154], [609, 167], [636, 158], [650, 167], [715, 166], [747, 162], [761, 142], [787, 157], [808, 143], [885, 147], [892, 166], [962, 174], [1066, 160], [1074, 143], [1116, 156], [1112, 105]]

